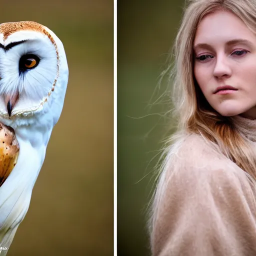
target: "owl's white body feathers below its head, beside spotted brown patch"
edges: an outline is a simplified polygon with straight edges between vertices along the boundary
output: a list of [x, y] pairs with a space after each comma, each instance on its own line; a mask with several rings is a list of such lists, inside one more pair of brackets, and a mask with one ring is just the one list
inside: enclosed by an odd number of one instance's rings
[[0, 186], [0, 247], [11, 243], [16, 227], [28, 210], [51, 129], [47, 125], [16, 128], [19, 143], [17, 163]]

